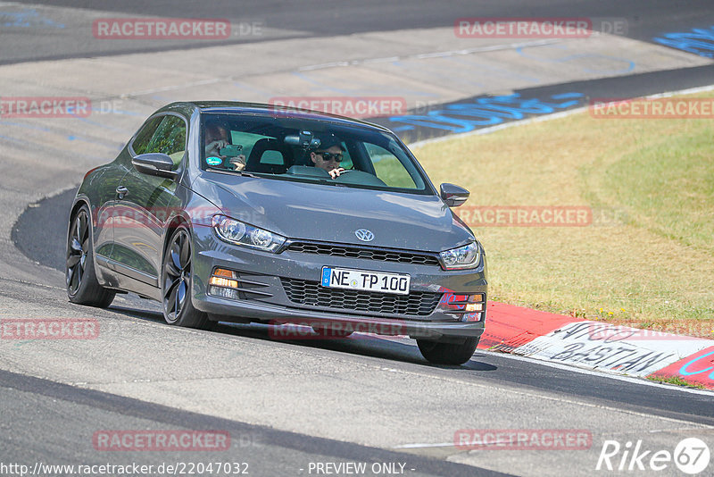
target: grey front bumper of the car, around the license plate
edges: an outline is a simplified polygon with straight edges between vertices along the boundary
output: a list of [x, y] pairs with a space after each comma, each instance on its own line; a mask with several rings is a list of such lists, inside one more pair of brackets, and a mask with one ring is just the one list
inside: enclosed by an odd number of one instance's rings
[[[478, 321], [461, 321], [463, 312], [453, 312], [444, 304], [452, 295], [482, 293], [486, 298], [486, 256], [481, 255], [477, 268], [461, 271], [444, 271], [438, 265], [403, 264], [345, 256], [313, 255], [283, 251], [278, 254], [253, 250], [228, 244], [217, 238], [210, 227], [194, 228], [194, 280], [192, 298], [196, 309], [211, 315], [212, 320], [245, 322], [260, 321], [271, 324], [297, 323], [310, 326], [328, 326], [330, 330], [363, 331], [380, 335], [407, 335], [424, 339], [459, 339], [479, 337], [484, 332], [484, 311]], [[390, 313], [390, 306], [366, 310], [365, 305], [350, 308], [312, 302], [311, 305], [295, 301], [295, 293], [287, 293], [288, 283], [310, 284], [311, 289], [320, 283], [323, 266], [366, 270], [372, 272], [408, 273], [411, 276], [410, 299], [417, 295], [438, 303], [430, 311], [420, 307], [406, 313]], [[208, 280], [216, 268], [237, 272], [245, 292], [240, 299], [219, 297], [208, 293]], [[332, 289], [329, 289], [332, 291]], [[324, 291], [324, 289], [320, 289]], [[352, 291], [354, 297], [356, 291]], [[336, 291], [336, 293], [342, 293]], [[390, 297], [375, 296], [387, 303]], [[394, 296], [393, 296], [394, 297]], [[394, 299], [399, 299], [394, 297]], [[360, 303], [365, 303], [358, 298]], [[410, 301], [409, 303], [412, 303]], [[339, 307], [343, 306], [343, 307]], [[381, 306], [381, 305], [380, 305]], [[403, 306], [399, 307], [403, 310]], [[386, 312], [384, 311], [386, 310]], [[452, 313], [450, 313], [452, 312]], [[475, 320], [474, 314], [469, 320]]]

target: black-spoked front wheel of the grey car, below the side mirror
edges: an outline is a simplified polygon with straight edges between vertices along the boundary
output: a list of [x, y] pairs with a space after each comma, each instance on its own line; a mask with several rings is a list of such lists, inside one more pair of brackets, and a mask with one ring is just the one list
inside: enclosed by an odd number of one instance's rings
[[163, 319], [176, 326], [207, 330], [208, 314], [195, 309], [191, 302], [193, 264], [191, 233], [181, 225], [174, 230], [162, 260]]

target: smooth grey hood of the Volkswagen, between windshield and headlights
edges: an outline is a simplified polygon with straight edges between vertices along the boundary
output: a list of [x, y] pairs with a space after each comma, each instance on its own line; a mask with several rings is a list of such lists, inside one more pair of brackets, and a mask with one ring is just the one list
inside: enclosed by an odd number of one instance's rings
[[[228, 175], [192, 188], [228, 216], [286, 238], [431, 252], [473, 240], [434, 195]], [[374, 239], [359, 240], [360, 229]]]

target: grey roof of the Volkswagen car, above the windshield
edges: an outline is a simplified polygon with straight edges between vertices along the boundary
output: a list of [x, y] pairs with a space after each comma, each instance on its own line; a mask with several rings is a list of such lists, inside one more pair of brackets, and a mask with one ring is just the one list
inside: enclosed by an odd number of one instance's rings
[[361, 121], [336, 114], [322, 113], [320, 111], [312, 111], [308, 109], [296, 109], [281, 105], [266, 105], [263, 103], [243, 103], [238, 101], [183, 101], [165, 105], [156, 113], [172, 111], [175, 113], [183, 113], [190, 117], [192, 113], [198, 110], [200, 113], [224, 113], [224, 114], [253, 114], [253, 115], [274, 115], [280, 113], [281, 117], [292, 119], [303, 119], [312, 121], [326, 121], [340, 123], [345, 126], [362, 126], [375, 128], [378, 130], [391, 132], [384, 126], [375, 124], [369, 121]]

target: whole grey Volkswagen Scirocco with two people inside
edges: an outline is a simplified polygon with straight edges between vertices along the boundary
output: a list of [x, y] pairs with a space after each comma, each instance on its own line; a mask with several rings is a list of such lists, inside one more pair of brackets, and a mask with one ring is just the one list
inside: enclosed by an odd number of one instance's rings
[[[173, 103], [71, 209], [70, 300], [133, 292], [169, 324], [307, 324], [416, 339], [469, 361], [486, 320], [486, 254], [391, 131], [272, 105]], [[312, 331], [310, 331], [312, 332]]]

